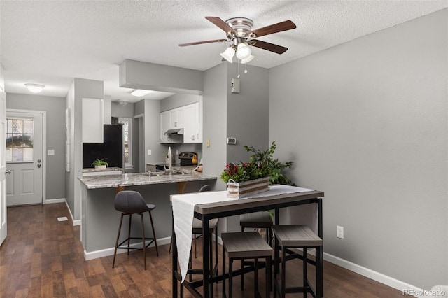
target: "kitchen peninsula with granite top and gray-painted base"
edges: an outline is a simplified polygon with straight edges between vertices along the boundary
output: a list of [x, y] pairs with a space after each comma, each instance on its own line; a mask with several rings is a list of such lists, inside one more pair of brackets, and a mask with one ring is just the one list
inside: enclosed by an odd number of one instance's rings
[[[158, 245], [167, 244], [172, 234], [172, 206], [170, 195], [197, 192], [202, 185], [214, 183], [215, 176], [196, 171], [174, 171], [174, 173], [127, 173], [109, 176], [83, 176], [81, 182], [81, 242], [85, 260], [113, 255], [120, 212], [113, 206], [120, 190], [140, 192], [148, 204], [157, 207], [152, 212]], [[151, 234], [148, 215], [145, 216], [145, 231]], [[141, 234], [140, 218], [135, 217], [132, 231]], [[123, 230], [127, 222], [123, 222]], [[135, 231], [134, 231], [135, 229]], [[149, 235], [148, 234], [148, 235]]]

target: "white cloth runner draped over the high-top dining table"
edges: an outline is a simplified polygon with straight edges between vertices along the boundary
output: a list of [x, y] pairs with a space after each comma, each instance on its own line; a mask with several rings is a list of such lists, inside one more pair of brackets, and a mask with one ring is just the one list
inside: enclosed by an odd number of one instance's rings
[[[297, 192], [310, 192], [307, 188], [290, 185], [271, 185], [267, 192], [254, 194], [250, 198], [268, 197], [279, 194], [293, 194]], [[219, 201], [233, 201], [234, 198], [227, 197], [227, 191], [221, 192], [195, 192], [191, 194], [174, 194], [171, 196], [174, 232], [176, 233], [177, 255], [181, 267], [182, 282], [188, 271], [188, 260], [192, 243], [193, 218], [196, 204], [216, 203]], [[248, 198], [244, 198], [248, 199]]]

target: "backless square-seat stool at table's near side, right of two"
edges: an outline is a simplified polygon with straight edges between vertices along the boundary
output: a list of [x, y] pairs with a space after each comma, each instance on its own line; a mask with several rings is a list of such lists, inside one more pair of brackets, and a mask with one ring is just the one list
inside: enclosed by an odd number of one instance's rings
[[[321, 297], [321, 279], [319, 268], [321, 264], [316, 262], [316, 290], [311, 288], [307, 278], [307, 248], [316, 248], [316, 256], [321, 253], [322, 239], [318, 237], [307, 225], [274, 225], [272, 227], [275, 235], [274, 248], [274, 298], [277, 292], [281, 298], [286, 293], [302, 292], [303, 297], [307, 297], [307, 292], [313, 297]], [[303, 286], [286, 288], [286, 250], [287, 248], [303, 248], [303, 255], [295, 254], [295, 257], [303, 260]], [[281, 249], [281, 285], [279, 285], [276, 275], [279, 272], [279, 249]], [[318, 292], [318, 293], [317, 293]]]

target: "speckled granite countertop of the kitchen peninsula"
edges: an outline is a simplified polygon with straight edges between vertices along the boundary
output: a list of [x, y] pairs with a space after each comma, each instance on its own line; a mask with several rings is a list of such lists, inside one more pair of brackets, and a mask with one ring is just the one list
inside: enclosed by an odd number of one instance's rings
[[126, 173], [122, 175], [109, 176], [84, 176], [78, 179], [87, 187], [87, 189], [125, 187], [133, 185], [151, 185], [160, 183], [182, 183], [199, 180], [216, 180], [216, 176], [204, 175], [196, 171], [188, 173]]

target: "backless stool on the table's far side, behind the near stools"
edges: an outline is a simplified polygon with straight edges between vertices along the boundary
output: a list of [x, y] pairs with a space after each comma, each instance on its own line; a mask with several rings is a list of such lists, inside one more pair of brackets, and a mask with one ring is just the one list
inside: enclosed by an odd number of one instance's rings
[[[267, 211], [258, 211], [253, 213], [246, 213], [239, 215], [239, 225], [241, 226], [241, 232], [244, 229], [266, 229], [266, 242], [269, 246], [272, 246], [272, 222], [271, 215]], [[253, 262], [244, 262], [241, 260], [241, 268], [245, 265], [252, 265]], [[241, 290], [244, 290], [244, 274], [241, 274]]]

